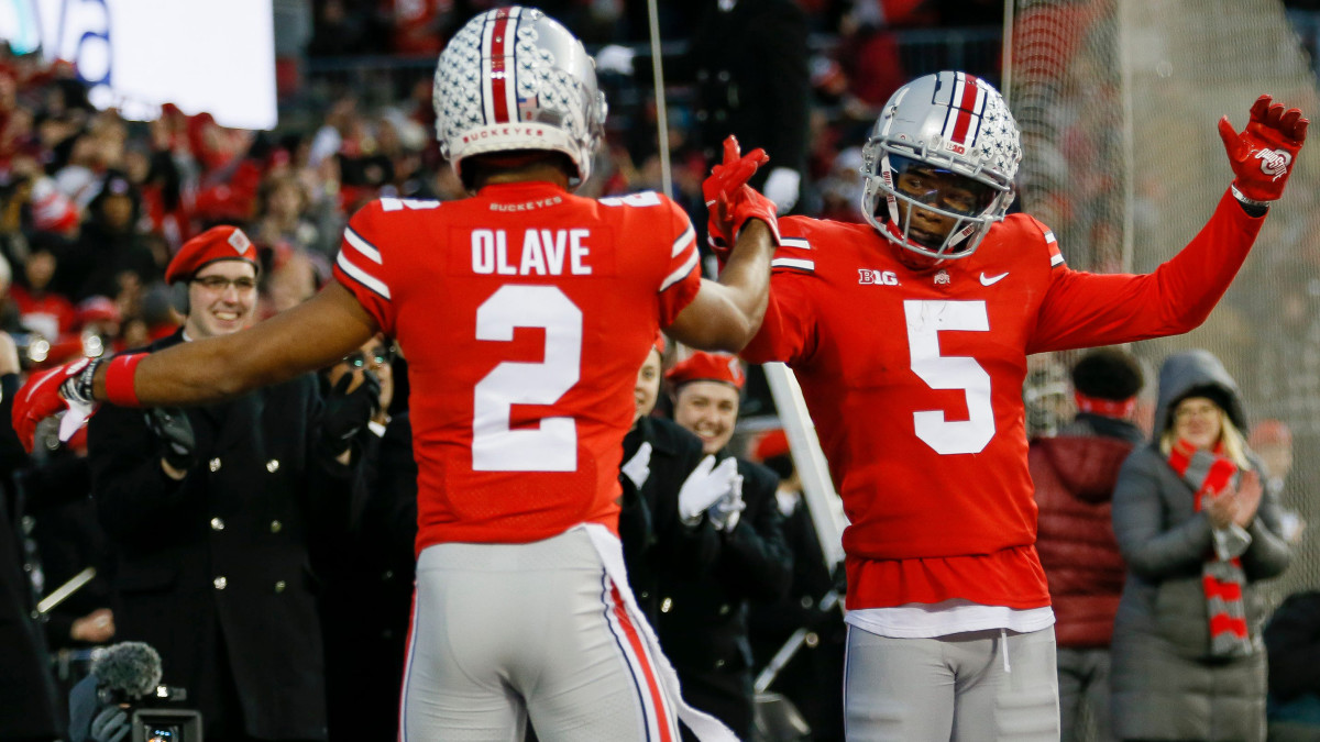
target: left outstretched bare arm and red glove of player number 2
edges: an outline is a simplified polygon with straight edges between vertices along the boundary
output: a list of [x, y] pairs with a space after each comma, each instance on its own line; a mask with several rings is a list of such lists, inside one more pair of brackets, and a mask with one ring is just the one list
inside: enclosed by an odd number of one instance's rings
[[32, 450], [37, 422], [98, 401], [177, 407], [220, 401], [339, 360], [378, 331], [376, 320], [338, 283], [247, 330], [114, 359], [78, 362], [28, 380], [13, 426]]

